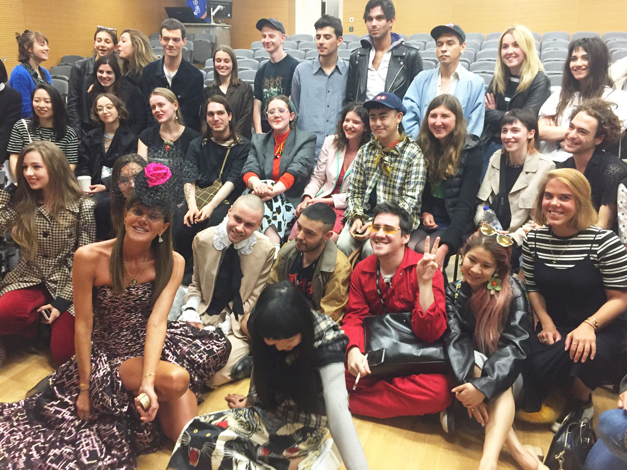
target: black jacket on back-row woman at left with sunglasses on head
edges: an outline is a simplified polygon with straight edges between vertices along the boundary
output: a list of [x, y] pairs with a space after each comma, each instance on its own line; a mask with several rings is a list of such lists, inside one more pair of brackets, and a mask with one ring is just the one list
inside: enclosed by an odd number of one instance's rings
[[86, 132], [96, 127], [89, 117], [90, 109], [87, 103], [87, 90], [92, 84], [95, 64], [95, 58], [89, 57], [75, 62], [70, 71], [68, 116], [70, 117], [70, 125], [78, 138], [83, 137]]

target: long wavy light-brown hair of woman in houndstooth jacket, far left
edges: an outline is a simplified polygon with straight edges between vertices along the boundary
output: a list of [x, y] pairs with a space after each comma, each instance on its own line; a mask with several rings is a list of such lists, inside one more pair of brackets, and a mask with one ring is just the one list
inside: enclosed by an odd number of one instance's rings
[[38, 140], [26, 145], [19, 152], [16, 164], [18, 189], [14, 197], [14, 207], [18, 216], [11, 230], [11, 235], [23, 249], [24, 253], [34, 258], [39, 248], [35, 213], [38, 211], [38, 203], [43, 201], [43, 192], [41, 189], [31, 189], [26, 181], [26, 177], [24, 177], [23, 170], [21, 170], [24, 164], [24, 157], [30, 152], [39, 152], [41, 154], [41, 160], [48, 172], [48, 185], [46, 188], [53, 196], [51, 197], [52, 207], [49, 213], [56, 222], [64, 223], [62, 216], [68, 215], [66, 207], [74, 202], [81, 201], [85, 195], [78, 186], [78, 182], [76, 182], [76, 178], [70, 170], [70, 165], [68, 165], [65, 155], [52, 142]]

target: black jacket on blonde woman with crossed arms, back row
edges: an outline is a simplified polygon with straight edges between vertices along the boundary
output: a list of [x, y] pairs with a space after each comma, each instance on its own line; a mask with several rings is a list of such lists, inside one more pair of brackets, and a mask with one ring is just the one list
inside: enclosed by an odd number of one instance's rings
[[[494, 79], [490, 81], [486, 93], [494, 93]], [[500, 132], [501, 118], [513, 109], [528, 109], [534, 112], [535, 117], [538, 116], [540, 108], [551, 95], [551, 80], [543, 71], [539, 71], [535, 75], [534, 80], [525, 91], [516, 93], [509, 103], [505, 102], [505, 95], [495, 93], [494, 100], [497, 105], [496, 109], [485, 108], [485, 120], [483, 121], [483, 133], [481, 141], [487, 142], [493, 135]]]

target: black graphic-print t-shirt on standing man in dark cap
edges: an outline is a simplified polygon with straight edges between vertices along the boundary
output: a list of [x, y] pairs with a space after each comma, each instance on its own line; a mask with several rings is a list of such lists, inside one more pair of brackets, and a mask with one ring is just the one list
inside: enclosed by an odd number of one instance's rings
[[298, 59], [289, 54], [282, 60], [272, 63], [267, 61], [255, 75], [255, 90], [253, 95], [261, 100], [261, 121], [266, 121], [266, 104], [274, 95], [292, 94], [292, 76], [299, 64]]

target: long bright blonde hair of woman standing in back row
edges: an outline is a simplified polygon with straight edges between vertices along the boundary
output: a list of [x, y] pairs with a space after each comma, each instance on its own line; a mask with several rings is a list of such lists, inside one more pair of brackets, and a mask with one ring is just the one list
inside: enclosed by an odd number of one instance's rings
[[494, 92], [500, 95], [505, 94], [505, 88], [507, 87], [507, 81], [510, 78], [510, 70], [507, 65], [503, 63], [501, 58], [501, 48], [503, 46], [503, 38], [505, 34], [512, 34], [514, 39], [520, 46], [520, 49], [525, 53], [525, 59], [522, 61], [520, 67], [520, 83], [518, 84], [516, 91], [525, 91], [534, 81], [538, 72], [544, 71], [538, 51], [535, 48], [534, 35], [529, 31], [527, 26], [522, 24], [515, 24], [513, 28], [507, 28], [501, 34], [501, 38], [498, 40], [498, 56], [497, 65], [494, 68]]

